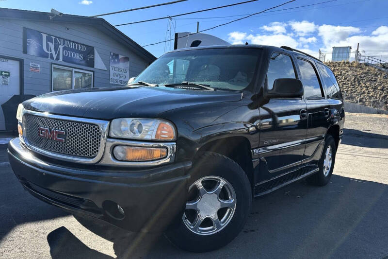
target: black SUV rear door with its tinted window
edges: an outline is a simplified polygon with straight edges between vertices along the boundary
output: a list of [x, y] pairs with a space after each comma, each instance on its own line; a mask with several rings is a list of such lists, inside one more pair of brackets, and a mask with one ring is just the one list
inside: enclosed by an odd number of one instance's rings
[[330, 123], [330, 104], [325, 99], [316, 63], [305, 56], [297, 57], [297, 63], [307, 104], [307, 133], [303, 164], [317, 164]]

